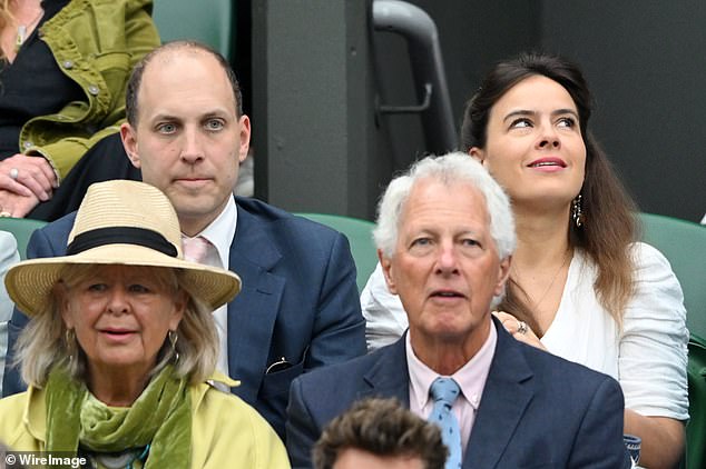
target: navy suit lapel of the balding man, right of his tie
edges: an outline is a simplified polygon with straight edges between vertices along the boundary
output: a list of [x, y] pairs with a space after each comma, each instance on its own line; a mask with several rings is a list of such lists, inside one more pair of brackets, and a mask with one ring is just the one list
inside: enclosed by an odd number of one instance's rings
[[269, 272], [282, 255], [264, 222], [241, 207], [237, 210], [229, 269], [241, 277], [243, 289], [228, 303], [228, 368], [231, 377], [242, 381], [237, 395], [253, 403], [268, 365], [285, 279]]

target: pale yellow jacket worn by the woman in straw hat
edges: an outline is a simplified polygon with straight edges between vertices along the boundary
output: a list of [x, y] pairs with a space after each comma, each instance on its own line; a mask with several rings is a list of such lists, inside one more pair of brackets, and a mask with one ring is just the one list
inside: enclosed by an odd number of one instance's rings
[[[223, 375], [214, 380], [237, 386]], [[290, 468], [286, 450], [267, 421], [241, 398], [204, 382], [192, 386], [192, 468]], [[14, 451], [43, 451], [45, 391], [29, 387], [0, 400], [0, 441]], [[55, 455], [56, 456], [56, 455]], [[59, 455], [65, 457], [66, 455]], [[135, 468], [139, 468], [139, 461]]]

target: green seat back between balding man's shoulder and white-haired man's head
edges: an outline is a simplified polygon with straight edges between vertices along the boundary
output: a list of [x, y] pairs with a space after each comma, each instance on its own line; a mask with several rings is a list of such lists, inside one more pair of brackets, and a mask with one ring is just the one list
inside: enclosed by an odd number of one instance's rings
[[297, 214], [331, 227], [345, 234], [351, 243], [351, 253], [353, 255], [355, 269], [357, 271], [357, 291], [363, 291], [363, 287], [365, 287], [365, 283], [367, 282], [367, 278], [371, 273], [373, 273], [373, 270], [375, 270], [375, 266], [377, 265], [377, 251], [375, 249], [375, 243], [373, 242], [373, 228], [375, 227], [375, 223], [367, 220], [342, 217], [339, 214]]

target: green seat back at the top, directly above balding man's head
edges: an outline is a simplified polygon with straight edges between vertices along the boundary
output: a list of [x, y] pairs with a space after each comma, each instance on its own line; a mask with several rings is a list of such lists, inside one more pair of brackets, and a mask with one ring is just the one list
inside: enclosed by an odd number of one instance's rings
[[229, 61], [233, 3], [233, 0], [155, 0], [153, 18], [161, 42], [194, 39], [210, 46]]

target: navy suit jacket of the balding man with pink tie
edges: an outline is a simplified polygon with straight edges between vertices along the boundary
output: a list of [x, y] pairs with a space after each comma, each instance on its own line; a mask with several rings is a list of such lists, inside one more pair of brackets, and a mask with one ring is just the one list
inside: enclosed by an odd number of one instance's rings
[[[365, 353], [355, 265], [343, 234], [254, 199], [236, 198], [236, 204], [229, 265], [243, 289], [228, 305], [229, 375], [241, 380], [233, 392], [284, 436], [292, 379]], [[28, 257], [62, 256], [73, 219], [71, 213], [35, 232]], [[16, 309], [10, 347], [26, 323]], [[282, 357], [292, 367], [266, 373]], [[23, 388], [17, 370], [6, 366], [4, 396]]]

